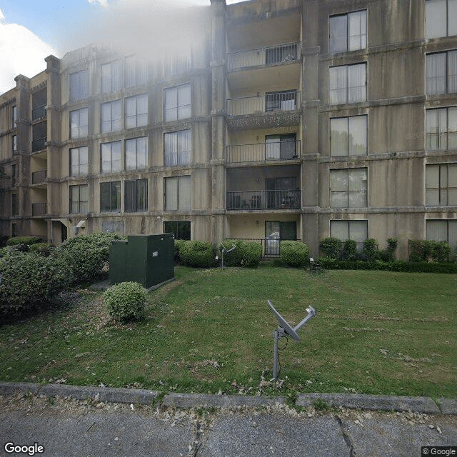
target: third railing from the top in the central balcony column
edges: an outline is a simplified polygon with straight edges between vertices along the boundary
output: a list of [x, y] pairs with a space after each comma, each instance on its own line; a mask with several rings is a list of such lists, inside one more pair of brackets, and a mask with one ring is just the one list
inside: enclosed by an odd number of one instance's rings
[[300, 141], [286, 140], [260, 144], [227, 146], [227, 161], [256, 162], [266, 160], [292, 160], [300, 156]]

